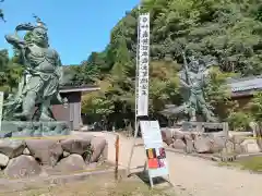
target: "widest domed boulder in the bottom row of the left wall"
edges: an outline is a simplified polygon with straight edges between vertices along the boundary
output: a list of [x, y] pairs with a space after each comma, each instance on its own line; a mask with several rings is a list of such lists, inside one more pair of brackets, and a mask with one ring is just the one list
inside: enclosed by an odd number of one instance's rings
[[9, 177], [29, 177], [39, 175], [41, 168], [34, 157], [22, 155], [9, 161], [4, 174]]

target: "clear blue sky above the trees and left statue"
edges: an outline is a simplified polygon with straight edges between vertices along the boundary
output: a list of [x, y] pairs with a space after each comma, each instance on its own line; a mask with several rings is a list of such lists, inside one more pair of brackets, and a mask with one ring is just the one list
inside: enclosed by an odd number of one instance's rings
[[4, 35], [20, 23], [34, 23], [33, 13], [48, 27], [50, 47], [62, 64], [79, 64], [92, 51], [103, 51], [110, 30], [139, 0], [5, 0], [0, 4], [7, 23], [0, 22], [0, 49], [12, 47]]

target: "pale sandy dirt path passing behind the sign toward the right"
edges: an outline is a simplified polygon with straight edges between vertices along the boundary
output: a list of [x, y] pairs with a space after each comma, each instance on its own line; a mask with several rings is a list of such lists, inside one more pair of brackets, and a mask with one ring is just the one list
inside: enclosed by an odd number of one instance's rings
[[[107, 138], [109, 160], [115, 160], [115, 138], [111, 133], [95, 133]], [[141, 142], [141, 140], [140, 140]], [[140, 143], [138, 142], [138, 143]], [[120, 137], [120, 164], [128, 166], [132, 139]], [[167, 152], [170, 181], [178, 196], [261, 196], [262, 175], [218, 167], [215, 162]], [[143, 166], [143, 147], [136, 147], [131, 168]]]

